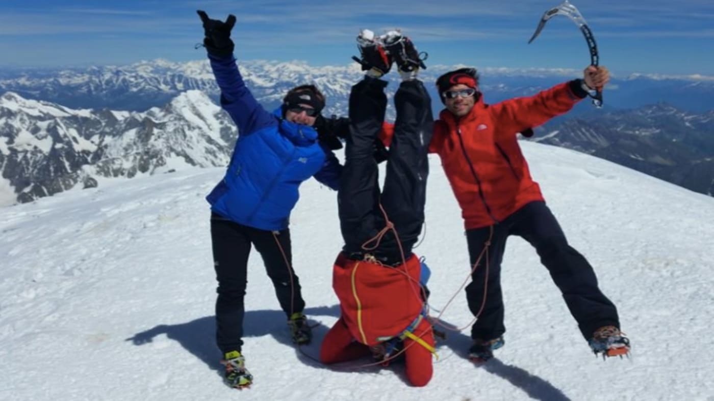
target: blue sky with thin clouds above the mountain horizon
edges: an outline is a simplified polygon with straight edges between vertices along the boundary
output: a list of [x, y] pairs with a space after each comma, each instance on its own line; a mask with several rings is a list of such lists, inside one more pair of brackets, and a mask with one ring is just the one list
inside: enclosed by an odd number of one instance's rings
[[[196, 9], [238, 18], [236, 57], [346, 65], [360, 28], [402, 28], [429, 63], [583, 68], [585, 39], [563, 16], [532, 44], [560, 0], [2, 0], [0, 66], [87, 66], [201, 59]], [[614, 73], [714, 75], [713, 0], [573, 0]]]

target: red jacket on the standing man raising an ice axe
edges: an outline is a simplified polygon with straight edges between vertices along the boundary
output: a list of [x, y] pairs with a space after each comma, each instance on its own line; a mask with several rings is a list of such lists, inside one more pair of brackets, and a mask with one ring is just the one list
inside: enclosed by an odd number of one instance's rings
[[466, 229], [501, 222], [529, 202], [543, 200], [516, 135], [568, 112], [580, 100], [569, 83], [561, 83], [495, 105], [481, 97], [461, 118], [441, 111], [429, 152], [441, 157]]

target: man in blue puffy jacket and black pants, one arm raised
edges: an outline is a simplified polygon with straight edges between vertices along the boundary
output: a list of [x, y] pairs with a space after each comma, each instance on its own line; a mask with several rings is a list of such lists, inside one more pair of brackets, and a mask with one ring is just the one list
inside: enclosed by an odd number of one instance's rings
[[[221, 89], [221, 107], [238, 126], [238, 140], [226, 175], [206, 197], [211, 204], [213, 264], [218, 280], [216, 343], [226, 365], [226, 383], [249, 385], [252, 377], [241, 355], [243, 297], [251, 244], [263, 257], [278, 301], [298, 345], [309, 343], [300, 283], [291, 263], [288, 219], [300, 184], [315, 177], [338, 189], [342, 166], [328, 140], [313, 125], [325, 106], [314, 85], [288, 91], [280, 108], [268, 113], [253, 97], [233, 57], [231, 29], [236, 17], [203, 22], [203, 45]], [[334, 139], [334, 137], [333, 137]], [[339, 141], [337, 140], [339, 144]]]

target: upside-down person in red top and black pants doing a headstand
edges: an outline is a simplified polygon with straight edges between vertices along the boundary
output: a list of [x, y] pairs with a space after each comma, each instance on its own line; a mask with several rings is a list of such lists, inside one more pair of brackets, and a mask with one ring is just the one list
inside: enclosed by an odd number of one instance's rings
[[[366, 31], [368, 32], [368, 31]], [[350, 136], [338, 192], [345, 246], [333, 267], [341, 317], [321, 345], [323, 363], [372, 353], [386, 365], [403, 354], [415, 386], [431, 380], [434, 338], [420, 285], [421, 264], [411, 249], [424, 221], [431, 99], [416, 79], [418, 53], [392, 34], [358, 37], [366, 77], [350, 94]], [[368, 32], [371, 33], [371, 32]], [[394, 95], [396, 122], [380, 192], [374, 142], [383, 130], [387, 99], [378, 79], [395, 62], [403, 82]]]

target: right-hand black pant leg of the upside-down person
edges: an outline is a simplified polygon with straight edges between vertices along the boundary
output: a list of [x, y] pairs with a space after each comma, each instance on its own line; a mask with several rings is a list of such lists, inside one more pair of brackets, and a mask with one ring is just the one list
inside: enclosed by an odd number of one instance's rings
[[406, 80], [394, 95], [396, 121], [389, 148], [381, 203], [393, 222], [398, 239], [388, 234], [381, 252], [390, 264], [408, 258], [424, 222], [428, 145], [433, 133], [431, 98], [420, 80]]

